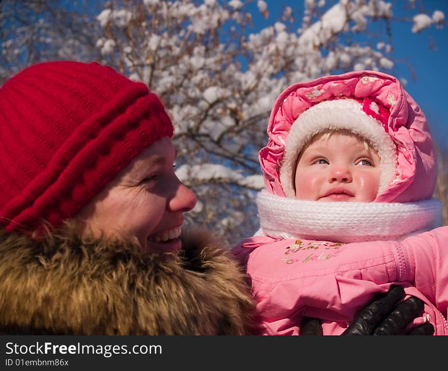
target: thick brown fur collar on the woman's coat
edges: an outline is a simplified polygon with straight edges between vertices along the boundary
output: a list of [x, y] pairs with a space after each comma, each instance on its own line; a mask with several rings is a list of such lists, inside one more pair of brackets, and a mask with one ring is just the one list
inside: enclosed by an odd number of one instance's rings
[[69, 223], [32, 239], [0, 230], [0, 332], [249, 334], [246, 276], [206, 231], [183, 254], [144, 254], [130, 241], [80, 238]]

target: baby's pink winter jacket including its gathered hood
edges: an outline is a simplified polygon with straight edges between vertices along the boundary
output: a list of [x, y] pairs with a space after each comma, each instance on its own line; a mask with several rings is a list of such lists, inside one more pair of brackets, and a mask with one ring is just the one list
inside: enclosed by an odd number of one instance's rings
[[[432, 197], [436, 167], [430, 131], [421, 109], [389, 75], [351, 72], [297, 83], [277, 98], [260, 151], [266, 191], [285, 197], [279, 179], [285, 139], [295, 119], [313, 104], [341, 96], [370, 97], [390, 110], [387, 130], [397, 144], [397, 177], [375, 202], [412, 203]], [[266, 192], [265, 191], [265, 192]], [[263, 227], [263, 221], [261, 221]], [[435, 334], [448, 334], [448, 227], [399, 241], [339, 243], [337, 236], [286, 239], [260, 235], [233, 253], [247, 266], [265, 334], [298, 334], [303, 316], [323, 321], [324, 334], [338, 335], [376, 293], [400, 284], [422, 299]], [[384, 238], [378, 238], [384, 239]]]

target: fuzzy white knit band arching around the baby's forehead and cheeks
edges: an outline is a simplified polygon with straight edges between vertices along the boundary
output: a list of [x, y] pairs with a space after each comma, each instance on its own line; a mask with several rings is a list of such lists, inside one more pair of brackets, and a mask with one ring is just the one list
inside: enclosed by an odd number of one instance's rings
[[280, 182], [286, 196], [295, 198], [293, 174], [303, 146], [316, 134], [327, 129], [347, 129], [372, 144], [381, 159], [377, 195], [383, 192], [396, 176], [397, 147], [384, 131], [381, 122], [365, 113], [360, 103], [353, 99], [337, 99], [310, 107], [293, 122], [286, 139], [285, 157], [280, 169]]

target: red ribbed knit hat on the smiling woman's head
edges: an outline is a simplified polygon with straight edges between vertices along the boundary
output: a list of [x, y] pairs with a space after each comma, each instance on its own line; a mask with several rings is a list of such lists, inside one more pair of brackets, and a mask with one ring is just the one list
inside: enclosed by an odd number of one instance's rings
[[173, 135], [157, 96], [112, 68], [41, 63], [0, 88], [0, 221], [58, 226], [155, 141]]

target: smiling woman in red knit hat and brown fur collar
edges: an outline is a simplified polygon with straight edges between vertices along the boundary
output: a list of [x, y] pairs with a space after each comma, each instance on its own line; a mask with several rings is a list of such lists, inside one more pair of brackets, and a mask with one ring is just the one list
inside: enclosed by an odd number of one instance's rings
[[180, 239], [196, 198], [146, 85], [42, 63], [0, 88], [0, 117], [0, 332], [256, 333], [229, 253], [205, 231]]

